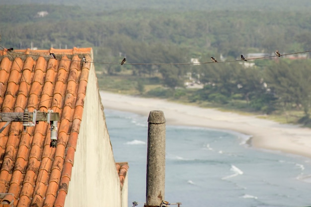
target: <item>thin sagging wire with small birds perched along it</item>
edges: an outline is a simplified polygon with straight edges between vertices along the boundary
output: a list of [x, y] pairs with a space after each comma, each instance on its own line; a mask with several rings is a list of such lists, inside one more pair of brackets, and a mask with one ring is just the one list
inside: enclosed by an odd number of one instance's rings
[[[0, 46], [3, 51], [6, 51], [2, 46]], [[289, 56], [289, 55], [296, 55], [296, 54], [302, 54], [302, 53], [309, 53], [311, 50], [302, 51], [302, 52], [296, 52], [296, 53], [288, 53], [288, 54], [282, 54], [282, 56]], [[17, 53], [14, 51], [7, 51], [7, 53], [12, 53], [16, 55], [23, 55], [23, 56], [33, 56], [33, 57], [43, 57], [47, 59], [54, 59], [50, 55], [42, 56], [42, 55], [34, 55], [34, 54], [23, 54], [23, 53]], [[274, 58], [278, 57], [277, 55], [273, 56], [265, 56], [265, 57], [259, 57], [259, 58], [246, 58], [246, 60], [259, 60], [259, 59], [268, 59], [268, 58]], [[278, 57], [279, 58], [279, 57]], [[62, 60], [62, 59], [56, 59], [56, 60]], [[76, 60], [63, 60], [63, 61], [71, 61], [71, 62], [81, 62]], [[218, 63], [232, 63], [232, 62], [240, 62], [243, 60], [232, 60], [232, 61], [218, 61]], [[106, 64], [106, 65], [119, 65], [120, 63], [110, 63], [110, 62], [90, 62], [87, 61], [87, 63], [93, 63], [93, 64]], [[212, 64], [213, 62], [204, 62], [204, 63], [125, 63], [124, 65], [145, 65], [145, 66], [176, 66], [176, 65], [197, 65], [197, 64]]]

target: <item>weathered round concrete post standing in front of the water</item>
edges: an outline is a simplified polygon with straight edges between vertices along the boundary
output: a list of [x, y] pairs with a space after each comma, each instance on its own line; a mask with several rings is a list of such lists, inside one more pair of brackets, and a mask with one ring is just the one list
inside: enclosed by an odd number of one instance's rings
[[148, 118], [146, 206], [160, 206], [165, 189], [165, 118], [151, 111]]

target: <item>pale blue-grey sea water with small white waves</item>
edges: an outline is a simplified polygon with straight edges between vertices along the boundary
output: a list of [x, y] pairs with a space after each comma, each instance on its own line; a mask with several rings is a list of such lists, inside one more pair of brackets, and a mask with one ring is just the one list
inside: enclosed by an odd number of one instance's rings
[[[143, 207], [148, 117], [104, 112], [115, 161], [130, 166], [129, 207], [134, 201]], [[229, 131], [166, 125], [165, 200], [181, 207], [311, 206], [311, 159], [256, 149], [247, 139]]]

